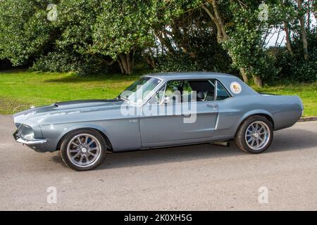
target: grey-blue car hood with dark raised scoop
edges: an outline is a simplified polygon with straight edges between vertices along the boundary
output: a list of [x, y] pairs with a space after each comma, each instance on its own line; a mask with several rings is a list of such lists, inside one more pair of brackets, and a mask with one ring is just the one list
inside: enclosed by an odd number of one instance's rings
[[15, 125], [25, 123], [27, 120], [36, 121], [39, 117], [52, 117], [58, 115], [71, 115], [78, 113], [89, 113], [100, 110], [114, 110], [120, 108], [125, 101], [117, 99], [108, 100], [78, 100], [56, 102], [38, 108], [31, 108], [13, 115]]

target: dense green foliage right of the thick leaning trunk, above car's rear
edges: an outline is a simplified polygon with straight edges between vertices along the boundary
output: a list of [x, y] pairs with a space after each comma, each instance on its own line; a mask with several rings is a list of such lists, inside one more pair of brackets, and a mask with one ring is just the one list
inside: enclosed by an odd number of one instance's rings
[[259, 20], [259, 5], [261, 1], [230, 1], [227, 6], [230, 8], [232, 24], [228, 26], [228, 41], [223, 46], [232, 56], [233, 66], [246, 68], [248, 75], [257, 75], [265, 81], [273, 79], [277, 70], [273, 67], [273, 58], [264, 48], [263, 37], [273, 23], [280, 18], [282, 5], [276, 2], [271, 4], [266, 1], [268, 8], [268, 20]]

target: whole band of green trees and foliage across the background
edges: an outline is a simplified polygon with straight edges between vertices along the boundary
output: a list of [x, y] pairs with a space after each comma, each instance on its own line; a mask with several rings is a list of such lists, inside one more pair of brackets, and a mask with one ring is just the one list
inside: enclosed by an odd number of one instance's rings
[[[260, 20], [261, 0], [0, 1], [0, 60], [32, 70], [130, 75], [145, 59], [154, 71], [240, 69], [266, 83], [313, 82], [316, 27], [299, 23], [313, 12], [311, 2], [267, 0], [268, 17]], [[56, 4], [56, 20], [48, 20], [49, 4]], [[266, 48], [273, 28], [289, 30], [287, 48]]]

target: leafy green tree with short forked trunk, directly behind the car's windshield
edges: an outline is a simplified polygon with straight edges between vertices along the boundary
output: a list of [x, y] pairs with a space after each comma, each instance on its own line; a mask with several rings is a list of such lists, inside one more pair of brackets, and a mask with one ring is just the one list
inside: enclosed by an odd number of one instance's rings
[[90, 51], [111, 56], [121, 72], [130, 75], [136, 51], [154, 43], [151, 26], [156, 22], [156, 1], [107, 0], [101, 9]]

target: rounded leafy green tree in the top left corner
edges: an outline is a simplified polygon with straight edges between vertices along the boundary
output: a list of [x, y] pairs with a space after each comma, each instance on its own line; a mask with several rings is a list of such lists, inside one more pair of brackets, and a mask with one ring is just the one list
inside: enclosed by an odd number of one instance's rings
[[51, 2], [0, 1], [0, 58], [23, 65], [51, 49], [56, 34], [54, 25], [46, 20], [46, 7]]

